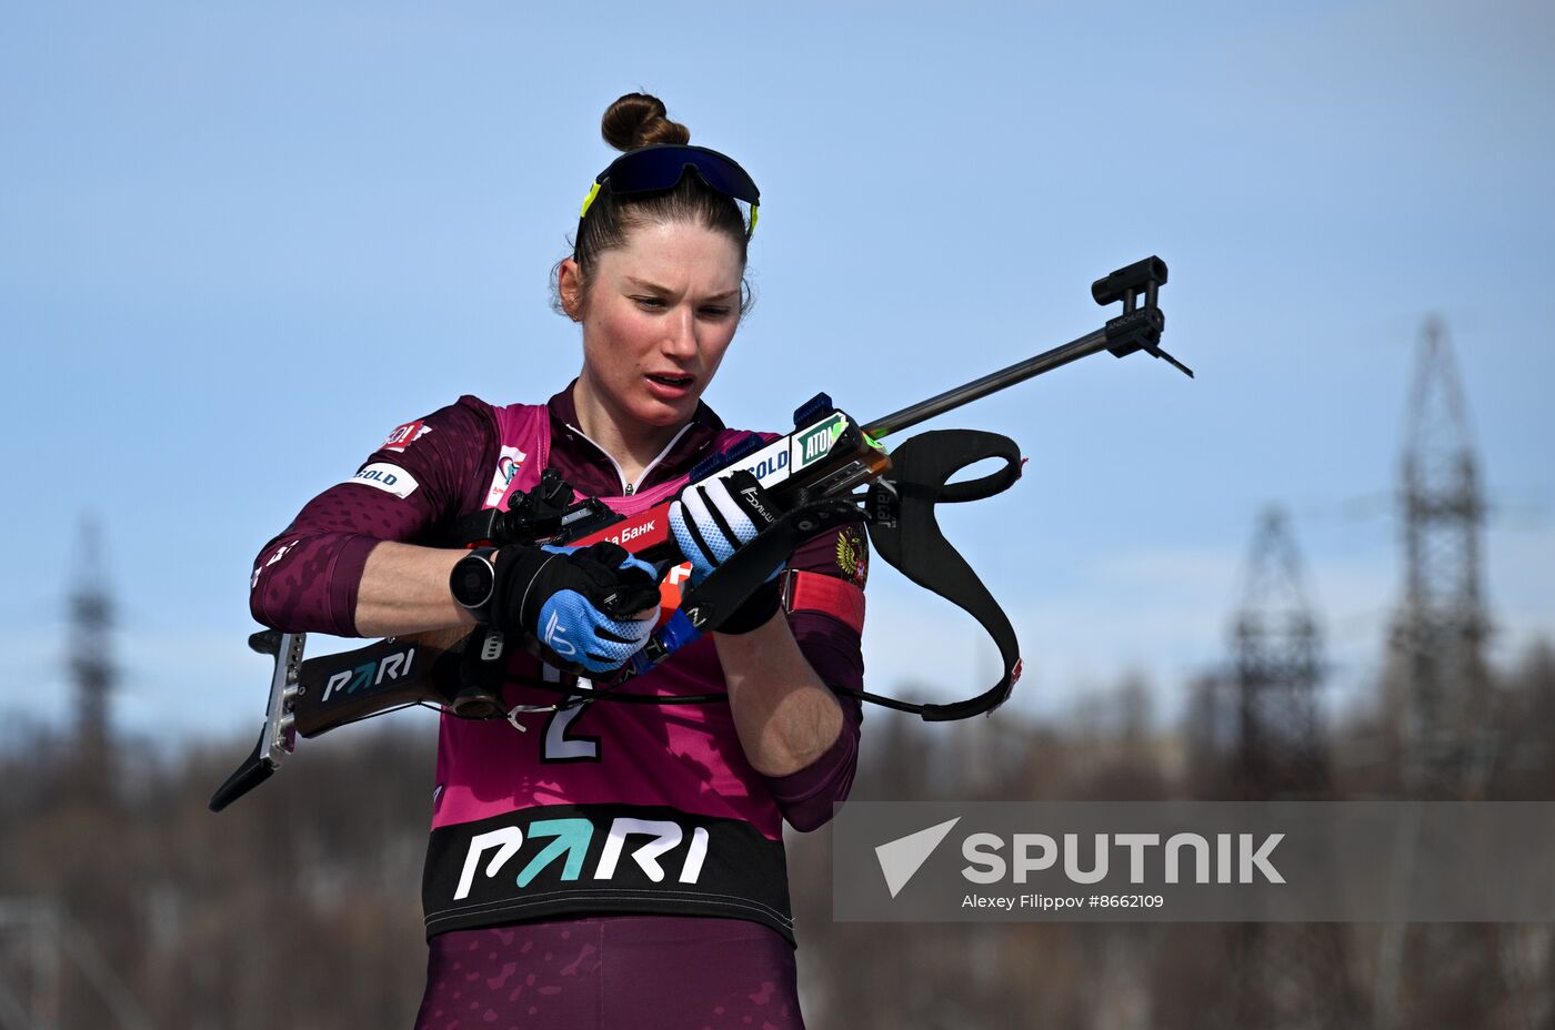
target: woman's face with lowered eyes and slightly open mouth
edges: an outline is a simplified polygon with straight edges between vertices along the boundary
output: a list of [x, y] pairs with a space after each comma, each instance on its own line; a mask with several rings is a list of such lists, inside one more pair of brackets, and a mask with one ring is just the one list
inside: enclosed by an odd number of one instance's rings
[[743, 270], [732, 239], [690, 222], [628, 231], [596, 261], [582, 301], [564, 261], [561, 297], [583, 323], [583, 376], [599, 401], [648, 426], [690, 418], [740, 323]]

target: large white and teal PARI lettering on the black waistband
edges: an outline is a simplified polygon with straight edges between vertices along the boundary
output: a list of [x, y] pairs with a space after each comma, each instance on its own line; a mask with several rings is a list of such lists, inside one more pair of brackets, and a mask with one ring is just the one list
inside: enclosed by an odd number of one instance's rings
[[[686, 831], [680, 823], [659, 819], [627, 819], [619, 817], [610, 825], [605, 836], [605, 847], [594, 864], [592, 879], [611, 879], [620, 867], [622, 856], [627, 854], [627, 842], [631, 837], [648, 837], [631, 850], [630, 858], [638, 868], [656, 884], [662, 884], [672, 870], [664, 868], [664, 859], [686, 840]], [[527, 887], [547, 865], [561, 864], [563, 881], [577, 881], [583, 876], [583, 865], [588, 859], [589, 845], [594, 842], [594, 823], [588, 819], [541, 819], [529, 825], [529, 840], [546, 840], [544, 848], [535, 853], [529, 862], [518, 870], [518, 886]], [[465, 851], [465, 867], [459, 875], [459, 886], [454, 889], [454, 901], [470, 896], [474, 889], [476, 875], [484, 873], [487, 879], [494, 879], [519, 848], [524, 847], [524, 831], [518, 826], [502, 826], [490, 833], [470, 837], [470, 850]], [[487, 853], [491, 858], [482, 867], [480, 859]], [[701, 876], [703, 861], [708, 858], [708, 830], [697, 826], [690, 833], [690, 844], [680, 861], [676, 882], [695, 884]]]

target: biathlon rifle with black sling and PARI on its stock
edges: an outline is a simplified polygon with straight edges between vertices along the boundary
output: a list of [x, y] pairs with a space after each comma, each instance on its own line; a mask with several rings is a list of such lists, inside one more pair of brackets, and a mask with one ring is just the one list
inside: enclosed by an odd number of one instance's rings
[[[1020, 677], [1015, 632], [977, 573], [944, 539], [933, 508], [941, 502], [980, 500], [1009, 488], [1020, 475], [1020, 451], [1006, 437], [975, 430], [921, 433], [889, 452], [880, 441], [1104, 350], [1116, 357], [1144, 351], [1193, 376], [1190, 368], [1160, 350], [1166, 320], [1157, 294], [1165, 283], [1165, 261], [1154, 256], [1137, 261], [1092, 284], [1098, 304], [1123, 301], [1123, 314], [1107, 320], [1101, 329], [869, 423], [858, 423], [819, 393], [795, 412], [795, 429], [788, 435], [770, 443], [750, 437], [700, 463], [690, 472], [690, 483], [737, 469], [750, 471], [781, 511], [778, 520], [698, 587], [687, 590], [647, 646], [608, 680], [596, 680], [589, 687], [563, 687], [558, 680], [526, 682], [557, 691], [557, 707], [600, 699], [636, 704], [725, 701], [726, 694], [666, 698], [634, 694], [620, 687], [652, 671], [701, 634], [715, 631], [805, 539], [863, 522], [874, 550], [888, 564], [983, 625], [998, 646], [1003, 676], [981, 694], [944, 705], [841, 687], [833, 690], [913, 712], [927, 721], [992, 712]], [[981, 478], [950, 483], [956, 472], [987, 458], [1003, 458], [1005, 465]], [[860, 488], [865, 488], [863, 492], [858, 492]], [[554, 469], [546, 469], [535, 488], [513, 494], [507, 510], [491, 508], [457, 519], [431, 542], [446, 547], [490, 542], [501, 547], [613, 541], [653, 564], [662, 578], [683, 561], [669, 533], [669, 505], [664, 502], [645, 513], [622, 516], [599, 499], [577, 500], [572, 488]], [[510, 642], [488, 626], [389, 637], [365, 648], [308, 660], [303, 660], [305, 643], [306, 634], [275, 629], [249, 637], [250, 648], [274, 659], [264, 727], [249, 758], [211, 797], [211, 811], [221, 811], [269, 778], [281, 758], [295, 749], [299, 735], [319, 736], [409, 705], [432, 705], [462, 718], [512, 715], [501, 696]]]

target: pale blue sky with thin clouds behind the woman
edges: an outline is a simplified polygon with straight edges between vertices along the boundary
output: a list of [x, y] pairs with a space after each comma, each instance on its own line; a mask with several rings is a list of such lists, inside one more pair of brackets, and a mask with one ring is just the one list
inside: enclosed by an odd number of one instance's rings
[[[258, 547], [395, 424], [578, 367], [547, 270], [619, 93], [762, 186], [759, 303], [708, 399], [872, 418], [1101, 325], [1172, 269], [1168, 345], [942, 419], [1014, 437], [944, 519], [1017, 621], [1019, 702], [1222, 660], [1256, 513], [1288, 503], [1336, 687], [1398, 593], [1410, 364], [1449, 328], [1496, 514], [1497, 656], [1555, 629], [1539, 3], [11, 3], [0, 14], [0, 712], [58, 721], [64, 598], [121, 604], [115, 718], [257, 727]], [[981, 690], [959, 614], [877, 565], [871, 685]]]

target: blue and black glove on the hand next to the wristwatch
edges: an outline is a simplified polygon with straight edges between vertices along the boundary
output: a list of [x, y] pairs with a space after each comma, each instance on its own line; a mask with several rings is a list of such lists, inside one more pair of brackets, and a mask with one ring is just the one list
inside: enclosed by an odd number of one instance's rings
[[[608, 673], [636, 654], [658, 621], [653, 565], [616, 544], [504, 547], [496, 555], [501, 589], [491, 621], [540, 642], [557, 668]], [[638, 612], [648, 612], [633, 618]]]

